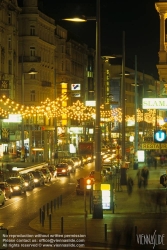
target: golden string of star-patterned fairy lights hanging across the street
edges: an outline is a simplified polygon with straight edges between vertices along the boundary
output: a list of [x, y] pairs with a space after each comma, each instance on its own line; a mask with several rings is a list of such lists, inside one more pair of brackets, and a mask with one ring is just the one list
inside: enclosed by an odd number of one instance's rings
[[[23, 106], [15, 101], [7, 98], [3, 95], [0, 98], [0, 117], [1, 119], [8, 118], [9, 114], [20, 114], [24, 118], [33, 117], [36, 115], [45, 116], [50, 118], [61, 118], [62, 115], [66, 115], [69, 119], [78, 121], [88, 121], [95, 119], [95, 108], [85, 106], [84, 103], [77, 100], [72, 106], [63, 106], [64, 96], [51, 101], [47, 98], [44, 102], [41, 102], [39, 106]], [[101, 121], [107, 122], [120, 122], [122, 121], [121, 108], [114, 108], [111, 110], [105, 110], [104, 105], [100, 107]], [[126, 122], [135, 121], [135, 115], [125, 117]], [[144, 121], [146, 123], [152, 123], [155, 125], [155, 121], [162, 121], [161, 116], [157, 116], [156, 110], [137, 110], [137, 122]]]

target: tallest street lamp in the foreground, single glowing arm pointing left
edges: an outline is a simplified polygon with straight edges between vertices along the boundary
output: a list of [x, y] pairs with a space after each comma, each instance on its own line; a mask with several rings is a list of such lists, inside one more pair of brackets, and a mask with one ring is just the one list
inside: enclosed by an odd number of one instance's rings
[[96, 120], [95, 120], [95, 199], [93, 218], [103, 218], [101, 198], [101, 128], [100, 128], [100, 100], [101, 100], [101, 41], [100, 41], [100, 0], [96, 0], [96, 17], [82, 16], [82, 18], [66, 18], [66, 21], [86, 22], [96, 20]]

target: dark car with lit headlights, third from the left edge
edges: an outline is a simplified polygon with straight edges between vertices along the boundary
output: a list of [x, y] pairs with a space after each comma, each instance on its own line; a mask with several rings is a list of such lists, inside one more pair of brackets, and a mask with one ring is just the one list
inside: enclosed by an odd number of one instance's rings
[[11, 186], [13, 194], [26, 193], [25, 180], [21, 177], [9, 177], [6, 182]]

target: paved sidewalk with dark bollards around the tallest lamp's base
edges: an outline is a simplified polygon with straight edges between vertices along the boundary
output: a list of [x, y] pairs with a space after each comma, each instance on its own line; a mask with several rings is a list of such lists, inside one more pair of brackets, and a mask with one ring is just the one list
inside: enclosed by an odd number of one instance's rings
[[[135, 182], [132, 195], [129, 196], [126, 186], [123, 186], [121, 191], [116, 192], [115, 212], [103, 211], [103, 219], [92, 219], [89, 195], [87, 195], [86, 198], [86, 217], [84, 197], [82, 195], [76, 195], [74, 191], [73, 194], [62, 200], [62, 205], [59, 204], [58, 206], [59, 200], [56, 200], [56, 205], [55, 201], [48, 201], [50, 208], [47, 211], [45, 206], [45, 220], [43, 225], [40, 222], [40, 216], [38, 216], [29, 223], [29, 226], [43, 234], [66, 234], [71, 235], [71, 237], [74, 236], [74, 234], [83, 235], [81, 238], [86, 240], [88, 245], [90, 242], [91, 244], [93, 242], [95, 246], [99, 246], [100, 244], [105, 244], [106, 246], [115, 244], [115, 240], [119, 238], [120, 233], [122, 234], [121, 245], [125, 246], [127, 240], [126, 232], [129, 232], [129, 229], [133, 228], [131, 240], [134, 243], [134, 229], [136, 226], [140, 233], [148, 234], [153, 223], [151, 218], [155, 218], [155, 216], [159, 219], [163, 218], [164, 213], [167, 212], [166, 192], [164, 196], [165, 203], [158, 206], [156, 203], [154, 204], [153, 199], [148, 199], [152, 190], [159, 190], [160, 193], [164, 193], [165, 189], [159, 184], [159, 176], [164, 173], [164, 171], [166, 171], [165, 168], [150, 170], [147, 190], [139, 190], [136, 179], [137, 171], [128, 170], [128, 175], [130, 175]], [[149, 195], [146, 197], [143, 194]], [[162, 199], [164, 199], [164, 197]], [[166, 233], [166, 225], [164, 225], [163, 230], [163, 233]], [[136, 248], [138, 248], [138, 246], [136, 246]]]

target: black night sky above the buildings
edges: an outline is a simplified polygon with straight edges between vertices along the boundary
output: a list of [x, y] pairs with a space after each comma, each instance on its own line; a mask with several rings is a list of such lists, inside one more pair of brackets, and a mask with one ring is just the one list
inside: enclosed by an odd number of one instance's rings
[[[157, 0], [158, 1], [158, 0]], [[95, 48], [95, 22], [71, 23], [61, 19], [76, 14], [96, 15], [96, 0], [42, 0], [43, 12]], [[159, 51], [159, 14], [154, 0], [101, 0], [101, 54], [122, 54], [122, 34], [125, 31], [126, 66], [158, 79], [156, 64]]]

